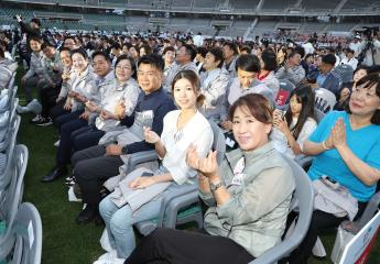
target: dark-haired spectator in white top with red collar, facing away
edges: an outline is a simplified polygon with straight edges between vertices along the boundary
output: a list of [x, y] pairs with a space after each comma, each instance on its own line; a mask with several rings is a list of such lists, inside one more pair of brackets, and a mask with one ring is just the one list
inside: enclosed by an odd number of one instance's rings
[[273, 97], [275, 98], [280, 89], [280, 82], [274, 74], [274, 70], [278, 68], [278, 63], [275, 59], [275, 54], [272, 52], [272, 50], [267, 48], [262, 52], [260, 65], [261, 70], [258, 79], [272, 90]]

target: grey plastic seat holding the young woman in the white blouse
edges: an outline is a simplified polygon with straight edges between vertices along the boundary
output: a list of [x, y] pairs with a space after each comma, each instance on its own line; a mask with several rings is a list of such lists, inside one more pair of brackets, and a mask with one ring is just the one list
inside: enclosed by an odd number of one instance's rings
[[[217, 160], [222, 162], [226, 143], [225, 136], [217, 124], [210, 122], [214, 132], [213, 150], [217, 151]], [[198, 228], [203, 227], [203, 213], [198, 198], [197, 185], [178, 186], [176, 190], [164, 196], [160, 215], [156, 219], [142, 221], [135, 224], [139, 232], [148, 235], [155, 228], [175, 228], [176, 224], [195, 221]]]

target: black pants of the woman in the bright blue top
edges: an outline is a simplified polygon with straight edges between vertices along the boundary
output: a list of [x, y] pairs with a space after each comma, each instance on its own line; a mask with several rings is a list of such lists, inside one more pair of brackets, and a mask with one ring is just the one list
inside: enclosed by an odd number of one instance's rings
[[[359, 210], [356, 218], [359, 218], [363, 210], [366, 209], [367, 202], [359, 202]], [[348, 220], [348, 218], [343, 217], [338, 218], [332, 213], [327, 213], [324, 211], [316, 210], [313, 212], [311, 226], [306, 233], [305, 239], [300, 244], [300, 246], [292, 252], [291, 256], [289, 257], [290, 264], [305, 264], [307, 263], [307, 258], [312, 255], [312, 251], [314, 248], [315, 242], [317, 241], [317, 237], [322, 230], [337, 228], [339, 224]]]

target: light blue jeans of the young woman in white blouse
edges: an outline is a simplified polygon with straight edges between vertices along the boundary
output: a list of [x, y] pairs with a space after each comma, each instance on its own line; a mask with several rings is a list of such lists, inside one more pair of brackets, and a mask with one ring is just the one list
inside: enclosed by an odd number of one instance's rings
[[127, 204], [117, 207], [107, 196], [99, 204], [99, 211], [106, 222], [108, 238], [119, 258], [127, 258], [135, 248], [133, 223], [156, 218], [161, 208], [161, 200], [165, 191], [132, 212]]

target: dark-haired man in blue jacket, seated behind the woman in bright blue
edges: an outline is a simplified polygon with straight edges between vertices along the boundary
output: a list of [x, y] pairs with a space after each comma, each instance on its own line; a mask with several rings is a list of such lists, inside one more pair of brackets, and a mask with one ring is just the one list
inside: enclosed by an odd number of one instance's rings
[[335, 55], [326, 54], [322, 56], [322, 63], [318, 66], [319, 75], [316, 79], [318, 87], [325, 88], [332, 91], [334, 95], [338, 95], [340, 90], [341, 79], [333, 72], [336, 63]]

